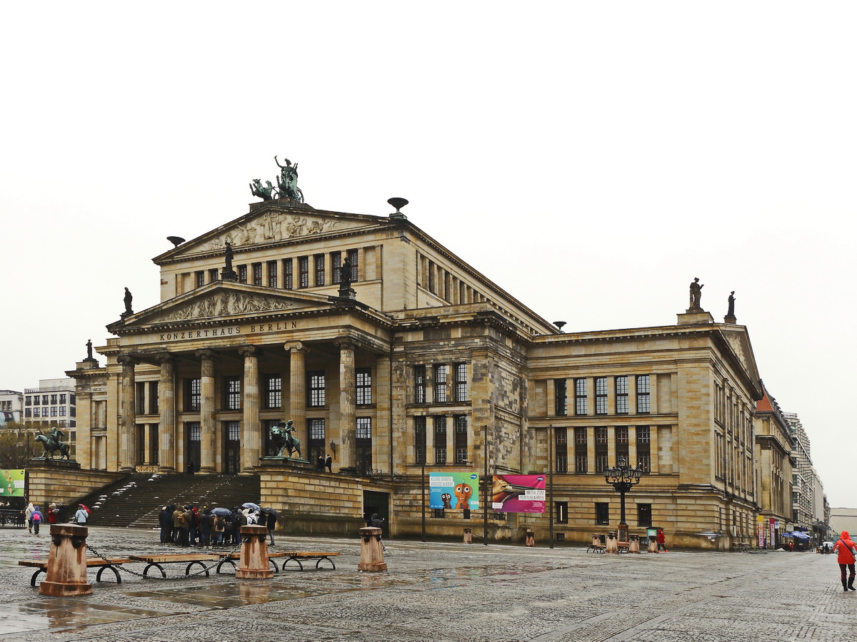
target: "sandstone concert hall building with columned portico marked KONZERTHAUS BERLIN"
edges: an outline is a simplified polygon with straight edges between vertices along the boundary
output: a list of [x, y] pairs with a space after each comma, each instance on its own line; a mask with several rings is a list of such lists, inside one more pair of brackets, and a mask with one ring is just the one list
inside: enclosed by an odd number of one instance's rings
[[[563, 332], [399, 211], [297, 199], [153, 260], [160, 303], [107, 326], [106, 366], [68, 372], [84, 469], [258, 474], [286, 529], [353, 532], [371, 503], [393, 537], [419, 534], [423, 511], [429, 535], [480, 530], [481, 513], [423, 505], [424, 473], [553, 473], [555, 532], [584, 542], [619, 521], [603, 471], [624, 455], [646, 471], [631, 532], [752, 541], [762, 391], [734, 318], [691, 306], [675, 325]], [[311, 464], [265, 459], [283, 419]], [[548, 521], [491, 514], [489, 537], [547, 538]]]

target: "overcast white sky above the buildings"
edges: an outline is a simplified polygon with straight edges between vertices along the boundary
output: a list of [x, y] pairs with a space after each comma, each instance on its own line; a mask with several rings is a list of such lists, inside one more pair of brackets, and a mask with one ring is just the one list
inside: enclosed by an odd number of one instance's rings
[[[159, 302], [151, 259], [247, 211], [409, 219], [566, 331], [735, 290], [833, 506], [857, 506], [854, 3], [5, 3], [0, 388]], [[843, 285], [843, 283], [845, 285]], [[838, 294], [837, 294], [838, 293]]]

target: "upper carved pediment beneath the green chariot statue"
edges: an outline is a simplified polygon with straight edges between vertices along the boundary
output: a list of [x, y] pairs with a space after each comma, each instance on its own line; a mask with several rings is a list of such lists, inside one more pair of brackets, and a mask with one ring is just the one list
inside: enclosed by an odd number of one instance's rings
[[227, 242], [231, 243], [234, 250], [240, 252], [252, 247], [301, 240], [315, 241], [319, 237], [353, 234], [357, 229], [376, 228], [379, 224], [389, 224], [387, 217], [283, 206], [279, 203], [280, 201], [268, 201], [255, 204], [243, 217], [187, 241], [153, 260], [160, 264], [197, 257], [205, 253], [222, 252]]

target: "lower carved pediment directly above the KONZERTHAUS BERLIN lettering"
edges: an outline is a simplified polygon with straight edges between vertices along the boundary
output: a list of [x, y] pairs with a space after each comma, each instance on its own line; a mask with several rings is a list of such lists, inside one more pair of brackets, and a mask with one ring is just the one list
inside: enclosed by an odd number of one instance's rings
[[[288, 294], [286, 294], [288, 292]], [[230, 281], [209, 283], [191, 292], [108, 326], [114, 334], [153, 326], [258, 317], [267, 313], [297, 312], [331, 307], [326, 295], [261, 288]]]

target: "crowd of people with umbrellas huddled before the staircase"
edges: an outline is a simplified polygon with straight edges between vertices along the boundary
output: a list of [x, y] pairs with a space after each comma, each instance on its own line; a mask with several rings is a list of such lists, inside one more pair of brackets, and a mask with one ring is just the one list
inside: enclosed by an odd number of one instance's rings
[[160, 543], [164, 545], [196, 546], [201, 549], [237, 546], [241, 543], [242, 526], [259, 525], [267, 527], [273, 546], [277, 515], [266, 508], [200, 509], [194, 504], [179, 504], [161, 508], [158, 522]]

